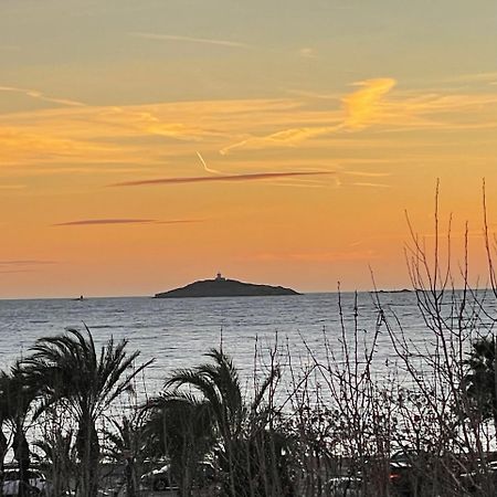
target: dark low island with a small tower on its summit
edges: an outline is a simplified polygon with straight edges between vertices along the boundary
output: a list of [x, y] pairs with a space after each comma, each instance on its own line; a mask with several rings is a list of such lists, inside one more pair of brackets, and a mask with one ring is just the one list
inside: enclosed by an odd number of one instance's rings
[[263, 297], [271, 295], [300, 295], [292, 288], [271, 285], [255, 285], [236, 279], [228, 279], [218, 273], [214, 279], [190, 283], [181, 288], [156, 294], [155, 298], [184, 297]]

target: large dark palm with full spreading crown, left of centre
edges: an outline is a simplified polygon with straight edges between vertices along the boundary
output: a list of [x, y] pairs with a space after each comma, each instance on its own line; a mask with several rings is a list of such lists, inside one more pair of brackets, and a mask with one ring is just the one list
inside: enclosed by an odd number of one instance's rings
[[127, 340], [110, 338], [98, 355], [92, 332], [68, 329], [66, 334], [36, 340], [31, 355], [22, 361], [44, 394], [40, 414], [59, 404], [72, 412], [76, 423], [76, 451], [80, 457], [78, 490], [95, 497], [98, 488], [101, 445], [97, 422], [151, 361], [134, 369], [139, 351], [126, 352]]

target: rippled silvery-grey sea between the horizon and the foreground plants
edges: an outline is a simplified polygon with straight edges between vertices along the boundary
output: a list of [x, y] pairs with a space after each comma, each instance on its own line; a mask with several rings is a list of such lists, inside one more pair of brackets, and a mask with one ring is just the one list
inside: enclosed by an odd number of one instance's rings
[[[379, 319], [371, 294], [358, 294], [360, 348], [368, 347]], [[409, 339], [431, 348], [433, 337], [426, 329], [413, 293], [384, 293], [387, 314], [395, 313]], [[355, 329], [353, 294], [341, 295], [341, 308], [348, 336]], [[338, 357], [341, 337], [337, 294], [307, 294], [282, 297], [154, 299], [89, 298], [0, 300], [0, 367], [9, 367], [29, 353], [41, 337], [64, 332], [67, 327], [93, 331], [98, 345], [110, 337], [127, 338], [129, 350], [140, 350], [141, 360], [155, 359], [144, 374], [147, 392], [154, 393], [168, 373], [205, 360], [203, 353], [219, 347], [232, 355], [242, 377], [254, 370], [254, 350], [275, 345], [288, 350], [292, 362], [305, 367], [308, 350], [325, 353], [325, 336]], [[381, 329], [381, 328], [380, 328]], [[285, 353], [284, 353], [285, 356]], [[395, 359], [390, 337], [381, 329], [376, 350], [374, 373], [387, 373]], [[248, 380], [246, 380], [248, 382]], [[247, 383], [248, 384], [248, 383]]]

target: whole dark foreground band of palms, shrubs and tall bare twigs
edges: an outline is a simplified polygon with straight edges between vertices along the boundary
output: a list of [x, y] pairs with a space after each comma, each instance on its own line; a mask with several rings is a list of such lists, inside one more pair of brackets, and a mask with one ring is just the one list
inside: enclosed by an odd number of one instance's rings
[[[320, 349], [303, 336], [303, 362], [277, 336], [274, 347], [255, 347], [251, 389], [221, 343], [138, 400], [149, 362], [137, 364], [126, 340], [97, 350], [87, 328], [38, 340], [0, 374], [2, 472], [12, 453], [28, 495], [36, 463], [56, 497], [109, 487], [144, 496], [141, 476], [161, 466], [161, 482], [181, 496], [495, 496], [497, 286], [485, 192], [484, 213], [489, 289], [469, 284], [467, 252], [456, 285], [438, 191], [433, 243], [409, 223], [426, 347], [410, 339], [383, 294], [371, 294], [367, 330], [359, 297], [351, 308], [340, 297], [338, 327], [324, 330]], [[393, 350], [387, 378], [374, 374], [380, 337]]]

